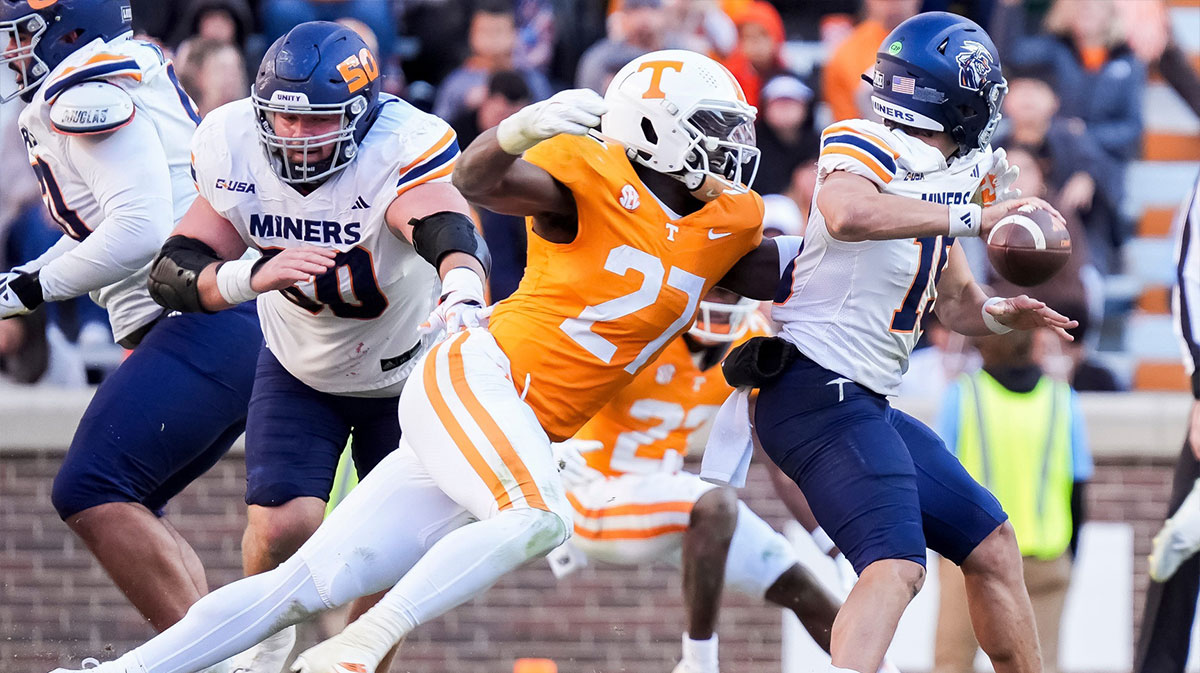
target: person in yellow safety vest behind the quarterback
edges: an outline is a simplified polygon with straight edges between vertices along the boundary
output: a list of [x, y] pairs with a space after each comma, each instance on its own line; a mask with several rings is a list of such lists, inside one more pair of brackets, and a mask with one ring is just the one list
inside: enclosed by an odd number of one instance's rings
[[[1057, 671], [1058, 623], [1070, 581], [1084, 487], [1092, 457], [1079, 396], [1045, 375], [1033, 332], [974, 339], [983, 369], [946, 392], [938, 433], [976, 480], [1003, 505], [1016, 531], [1046, 673]], [[935, 673], [970, 673], [978, 643], [971, 630], [962, 572], [940, 565]]]

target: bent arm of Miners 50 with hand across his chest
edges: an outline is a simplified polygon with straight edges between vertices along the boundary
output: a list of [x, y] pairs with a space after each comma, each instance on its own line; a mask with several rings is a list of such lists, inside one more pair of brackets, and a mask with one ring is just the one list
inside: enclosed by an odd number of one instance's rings
[[[196, 197], [155, 259], [151, 296], [174, 311], [222, 311], [319, 276], [334, 266], [337, 254], [334, 248], [304, 246], [270, 258], [239, 260], [246, 247], [234, 226], [204, 197]], [[221, 271], [224, 260], [236, 262]], [[238, 299], [241, 301], [230, 301]]]

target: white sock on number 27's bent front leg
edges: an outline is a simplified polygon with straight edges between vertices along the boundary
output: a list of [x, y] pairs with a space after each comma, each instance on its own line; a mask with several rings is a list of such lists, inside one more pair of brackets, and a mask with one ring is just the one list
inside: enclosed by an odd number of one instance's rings
[[[510, 570], [545, 555], [565, 537], [562, 519], [542, 510], [505, 510], [449, 533], [362, 617], [346, 627], [383, 654], [419, 624], [484, 593]], [[386, 645], [386, 647], [384, 647]]]

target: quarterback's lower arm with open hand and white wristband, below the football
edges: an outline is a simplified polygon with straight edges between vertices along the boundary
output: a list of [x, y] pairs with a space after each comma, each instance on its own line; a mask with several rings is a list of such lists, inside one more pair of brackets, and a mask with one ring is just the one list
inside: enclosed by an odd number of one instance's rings
[[[985, 312], [991, 320], [984, 317]], [[976, 282], [966, 256], [958, 246], [950, 248], [946, 272], [937, 283], [937, 318], [947, 328], [967, 336], [1050, 328], [1060, 337], [1074, 341], [1066, 330], [1079, 325], [1045, 302], [1024, 294], [989, 298]]]

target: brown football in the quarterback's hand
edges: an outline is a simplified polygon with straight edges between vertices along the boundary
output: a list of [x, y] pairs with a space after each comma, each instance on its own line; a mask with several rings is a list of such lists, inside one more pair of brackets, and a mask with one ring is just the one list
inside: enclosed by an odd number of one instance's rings
[[1049, 211], [1026, 205], [988, 234], [988, 259], [1008, 282], [1022, 287], [1050, 280], [1070, 258], [1070, 234]]

